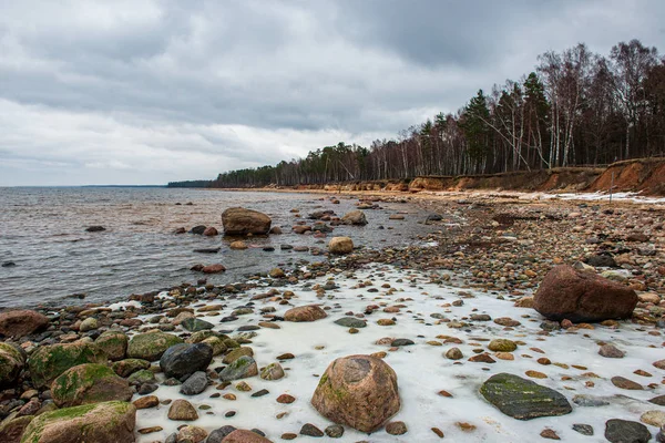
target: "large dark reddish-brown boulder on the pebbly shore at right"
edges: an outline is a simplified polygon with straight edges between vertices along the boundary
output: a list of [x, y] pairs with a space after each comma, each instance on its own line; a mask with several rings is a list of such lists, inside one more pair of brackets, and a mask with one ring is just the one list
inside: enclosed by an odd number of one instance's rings
[[533, 299], [533, 308], [548, 319], [573, 322], [631, 318], [636, 305], [634, 290], [567, 265], [548, 272]]

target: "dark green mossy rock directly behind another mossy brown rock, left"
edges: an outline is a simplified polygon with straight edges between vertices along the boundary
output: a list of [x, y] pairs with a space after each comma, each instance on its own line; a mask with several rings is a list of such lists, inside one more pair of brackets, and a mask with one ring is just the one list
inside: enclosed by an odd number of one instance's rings
[[93, 343], [64, 343], [38, 348], [28, 359], [35, 388], [49, 387], [64, 371], [79, 364], [106, 363], [108, 357]]

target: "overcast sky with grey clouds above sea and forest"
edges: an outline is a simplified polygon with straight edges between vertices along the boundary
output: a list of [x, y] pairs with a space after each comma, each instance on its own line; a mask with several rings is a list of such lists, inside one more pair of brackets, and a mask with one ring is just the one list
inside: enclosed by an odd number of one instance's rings
[[662, 0], [0, 0], [0, 186], [166, 184], [369, 146]]

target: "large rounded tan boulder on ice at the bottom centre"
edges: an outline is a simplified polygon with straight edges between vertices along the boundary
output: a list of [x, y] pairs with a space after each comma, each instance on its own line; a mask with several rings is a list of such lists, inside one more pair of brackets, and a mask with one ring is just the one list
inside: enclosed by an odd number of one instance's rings
[[376, 357], [337, 359], [321, 377], [311, 404], [335, 423], [374, 432], [400, 409], [397, 374]]

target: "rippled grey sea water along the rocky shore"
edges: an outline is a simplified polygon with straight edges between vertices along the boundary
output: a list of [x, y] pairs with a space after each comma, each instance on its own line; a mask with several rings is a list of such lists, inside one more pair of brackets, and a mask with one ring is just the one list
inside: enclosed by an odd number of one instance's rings
[[[191, 271], [195, 264], [222, 262], [228, 271], [208, 276], [213, 284], [241, 281], [249, 274], [267, 271], [296, 260], [320, 261], [308, 253], [280, 250], [282, 244], [318, 246], [311, 236], [290, 234], [296, 219], [314, 210], [334, 209], [342, 215], [357, 199], [341, 198], [339, 205], [318, 194], [219, 192], [170, 188], [0, 188], [0, 308], [43, 305], [109, 302], [184, 281], [203, 275]], [[186, 205], [186, 203], [193, 205]], [[181, 203], [181, 205], [176, 205]], [[250, 240], [255, 248], [231, 250], [222, 236], [203, 237], [173, 230], [195, 225], [222, 231], [221, 214], [244, 206], [268, 214], [285, 234]], [[426, 216], [403, 204], [381, 204], [367, 210], [366, 227], [336, 227], [332, 235], [349, 235], [357, 245], [379, 248], [412, 244], [426, 231], [418, 224]], [[409, 210], [405, 222], [388, 220], [390, 214]], [[102, 225], [102, 233], [85, 228]], [[379, 230], [377, 227], [395, 227]], [[273, 253], [264, 246], [274, 246]], [[222, 247], [218, 254], [193, 250]], [[83, 301], [73, 293], [85, 293]]]

